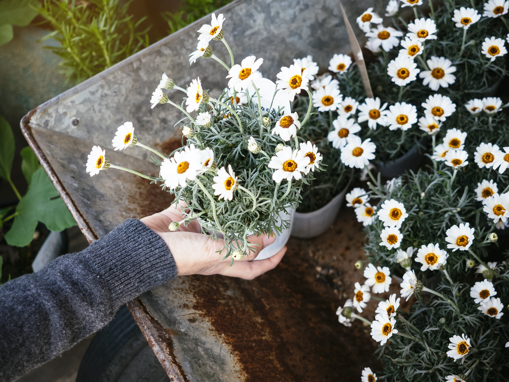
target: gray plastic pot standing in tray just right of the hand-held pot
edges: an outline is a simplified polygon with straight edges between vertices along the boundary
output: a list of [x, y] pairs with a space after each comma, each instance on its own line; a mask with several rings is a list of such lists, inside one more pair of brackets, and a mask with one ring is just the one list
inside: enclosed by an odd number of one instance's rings
[[329, 229], [336, 219], [337, 213], [340, 212], [350, 182], [348, 182], [343, 191], [334, 196], [320, 210], [306, 213], [296, 212], [293, 220], [292, 236], [300, 239], [309, 239], [321, 235]]

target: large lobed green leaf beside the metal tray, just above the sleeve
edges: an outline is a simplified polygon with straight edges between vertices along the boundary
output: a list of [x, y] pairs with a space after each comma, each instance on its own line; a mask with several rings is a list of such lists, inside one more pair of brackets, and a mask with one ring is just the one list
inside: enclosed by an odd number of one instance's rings
[[7, 244], [17, 247], [30, 244], [38, 221], [52, 231], [62, 231], [76, 224], [42, 167], [32, 175], [29, 190], [19, 201], [16, 212], [18, 215], [5, 239]]

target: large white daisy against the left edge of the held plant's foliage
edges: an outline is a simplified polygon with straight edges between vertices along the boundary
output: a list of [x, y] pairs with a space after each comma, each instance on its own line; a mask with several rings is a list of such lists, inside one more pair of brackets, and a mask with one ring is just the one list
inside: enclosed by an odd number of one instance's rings
[[165, 158], [161, 163], [160, 176], [164, 185], [174, 190], [178, 186], [186, 187], [187, 180], [193, 181], [202, 169], [201, 153], [194, 149], [181, 151], [172, 158]]

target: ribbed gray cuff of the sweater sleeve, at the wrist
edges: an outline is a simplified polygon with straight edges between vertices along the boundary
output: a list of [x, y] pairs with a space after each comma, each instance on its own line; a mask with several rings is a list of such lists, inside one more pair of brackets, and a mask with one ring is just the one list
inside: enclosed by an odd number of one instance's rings
[[119, 305], [177, 276], [164, 240], [136, 219], [124, 221], [83, 252]]

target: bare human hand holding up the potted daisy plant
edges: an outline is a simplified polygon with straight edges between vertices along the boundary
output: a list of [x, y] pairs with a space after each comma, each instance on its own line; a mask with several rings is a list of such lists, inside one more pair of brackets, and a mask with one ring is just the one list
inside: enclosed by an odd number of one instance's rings
[[[254, 252], [251, 251], [248, 256], [234, 261], [230, 267], [230, 258], [221, 260], [226, 254], [223, 249], [224, 241], [222, 239], [214, 241], [210, 236], [202, 234], [198, 221], [192, 221], [187, 227], [181, 224], [177, 231], [172, 232], [168, 229], [170, 223], [184, 218], [180, 213], [181, 205], [172, 204], [164, 211], [141, 219], [166, 242], [175, 259], [179, 276], [219, 274], [251, 280], [275, 268], [287, 250], [285, 247], [268, 259], [249, 261], [275, 241], [274, 235], [251, 235], [247, 239], [249, 243], [259, 246], [251, 246]], [[223, 249], [221, 252], [217, 252], [221, 249]]]

